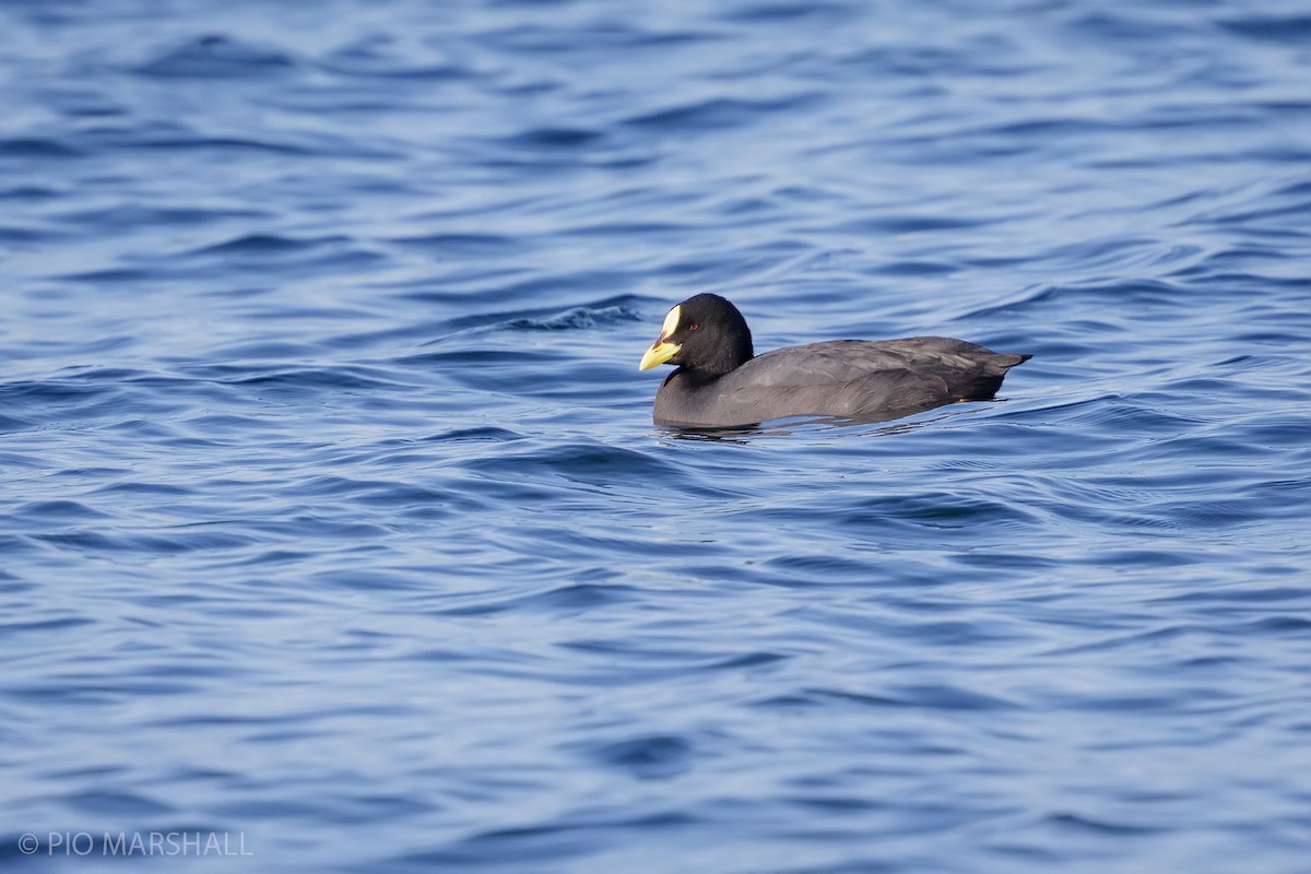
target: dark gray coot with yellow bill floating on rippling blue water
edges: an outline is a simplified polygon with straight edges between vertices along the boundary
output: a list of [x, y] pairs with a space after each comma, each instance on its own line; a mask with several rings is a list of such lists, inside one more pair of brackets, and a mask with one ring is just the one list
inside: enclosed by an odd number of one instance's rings
[[696, 295], [670, 311], [641, 368], [678, 366], [656, 393], [657, 425], [732, 427], [792, 415], [881, 421], [985, 401], [1029, 358], [948, 337], [838, 339], [756, 358], [737, 307]]

